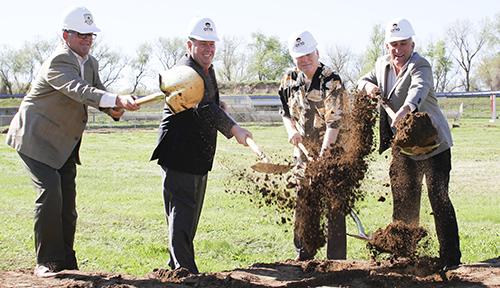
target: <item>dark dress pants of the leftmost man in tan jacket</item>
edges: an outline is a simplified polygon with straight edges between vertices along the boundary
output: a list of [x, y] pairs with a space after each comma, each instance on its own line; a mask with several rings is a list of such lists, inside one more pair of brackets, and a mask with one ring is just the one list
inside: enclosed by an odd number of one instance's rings
[[77, 269], [73, 243], [76, 231], [76, 158], [73, 153], [60, 169], [19, 153], [37, 193], [35, 249], [37, 263], [58, 262]]

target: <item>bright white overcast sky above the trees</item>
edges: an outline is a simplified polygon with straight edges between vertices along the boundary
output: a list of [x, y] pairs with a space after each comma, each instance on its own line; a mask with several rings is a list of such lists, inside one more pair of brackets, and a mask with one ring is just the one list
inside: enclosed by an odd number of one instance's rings
[[252, 32], [285, 41], [298, 29], [308, 29], [320, 43], [320, 52], [331, 45], [362, 52], [372, 27], [396, 17], [413, 24], [418, 43], [440, 39], [458, 19], [480, 23], [500, 13], [498, 0], [7, 0], [2, 1], [0, 46], [20, 47], [36, 37], [58, 35], [62, 12], [86, 6], [102, 32], [101, 41], [132, 54], [144, 41], [158, 37], [185, 37], [194, 16], [211, 17], [219, 36], [250, 39]]

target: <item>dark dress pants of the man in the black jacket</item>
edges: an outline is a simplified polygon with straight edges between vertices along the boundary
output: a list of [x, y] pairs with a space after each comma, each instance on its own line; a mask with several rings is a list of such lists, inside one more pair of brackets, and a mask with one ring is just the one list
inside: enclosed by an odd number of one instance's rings
[[168, 241], [172, 269], [186, 268], [198, 274], [193, 240], [198, 227], [207, 174], [184, 173], [162, 166], [163, 201], [168, 222]]

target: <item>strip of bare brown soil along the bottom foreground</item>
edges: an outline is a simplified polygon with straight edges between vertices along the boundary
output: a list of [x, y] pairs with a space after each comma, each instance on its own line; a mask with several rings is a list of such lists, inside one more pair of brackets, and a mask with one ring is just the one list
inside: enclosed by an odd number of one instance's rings
[[[62, 271], [36, 278], [32, 271], [0, 272], [0, 287], [125, 288], [125, 287], [499, 287], [500, 259], [437, 272], [436, 259], [418, 261], [284, 261], [256, 263], [248, 268], [216, 273], [156, 271], [149, 277], [113, 273]], [[159, 272], [159, 273], [158, 273]]]

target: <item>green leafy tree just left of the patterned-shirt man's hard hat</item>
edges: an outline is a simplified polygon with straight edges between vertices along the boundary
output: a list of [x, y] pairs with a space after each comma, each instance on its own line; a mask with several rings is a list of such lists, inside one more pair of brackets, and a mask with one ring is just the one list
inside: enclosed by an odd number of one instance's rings
[[275, 36], [262, 33], [252, 33], [253, 42], [249, 45], [251, 51], [248, 70], [259, 81], [277, 80], [285, 69], [293, 65], [285, 45]]

